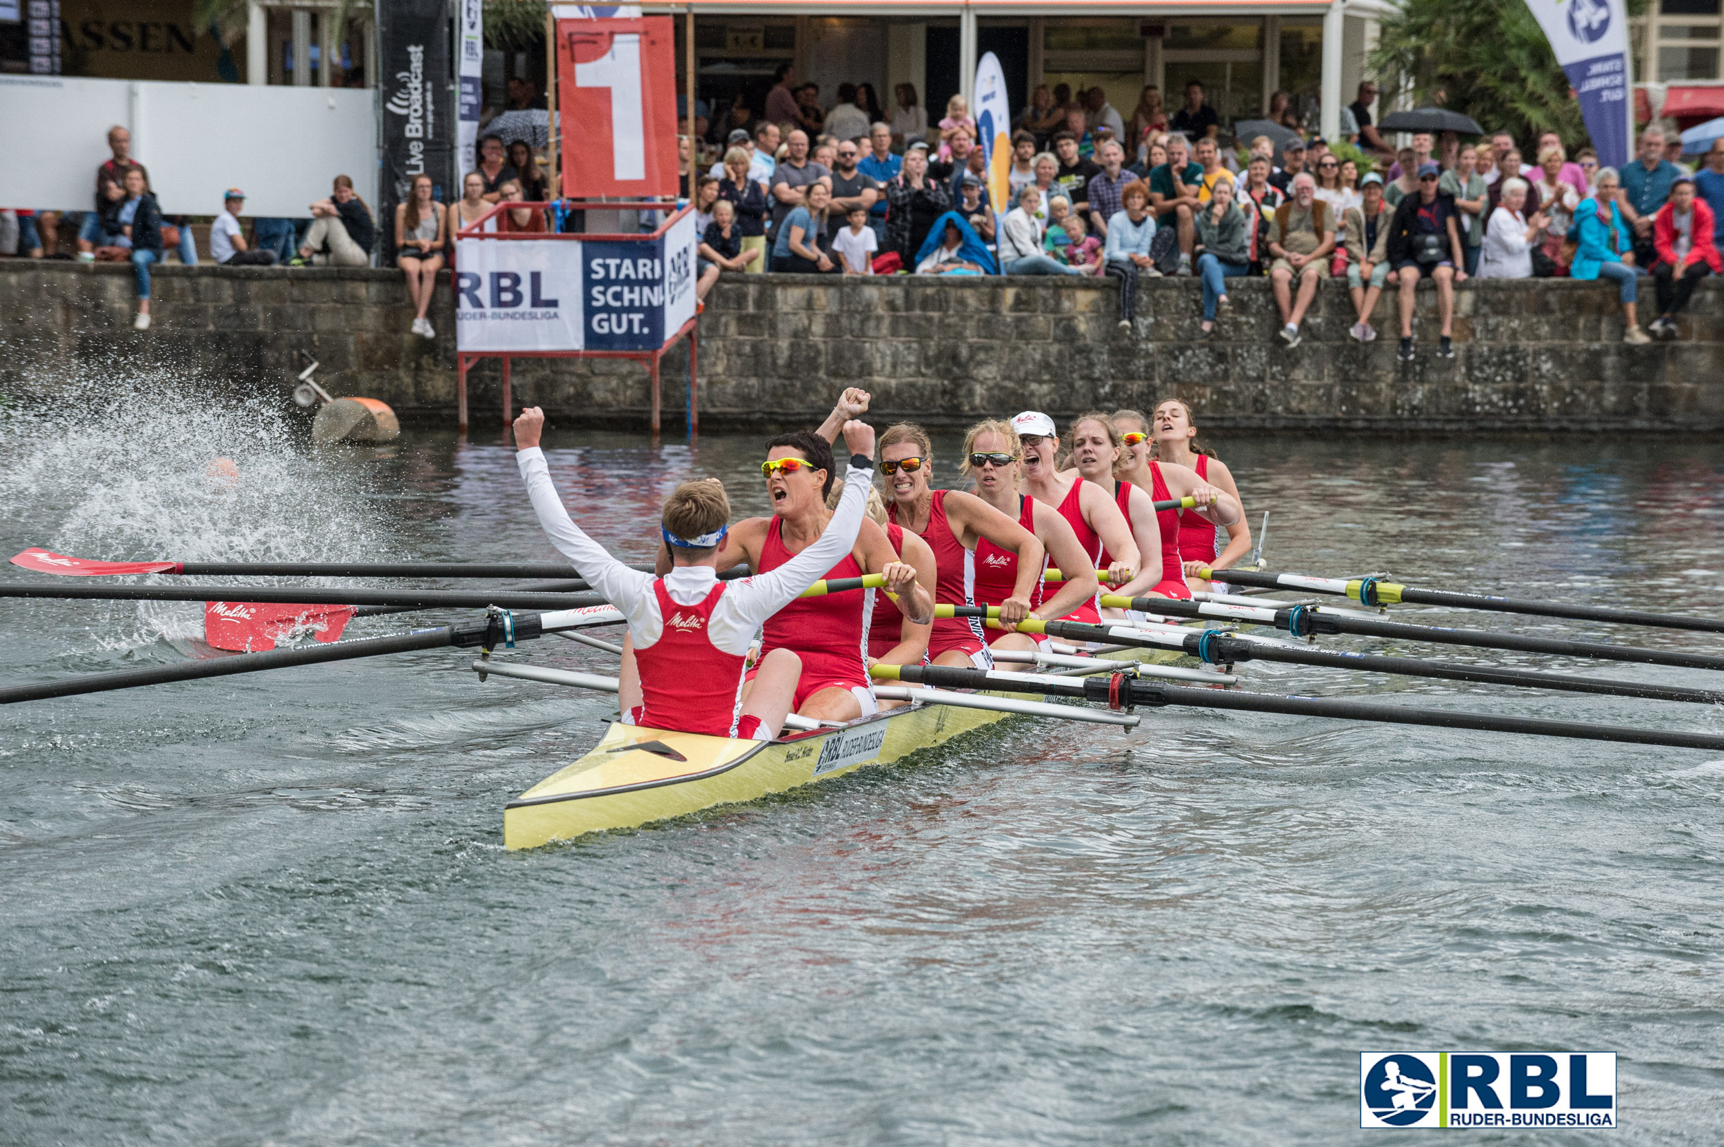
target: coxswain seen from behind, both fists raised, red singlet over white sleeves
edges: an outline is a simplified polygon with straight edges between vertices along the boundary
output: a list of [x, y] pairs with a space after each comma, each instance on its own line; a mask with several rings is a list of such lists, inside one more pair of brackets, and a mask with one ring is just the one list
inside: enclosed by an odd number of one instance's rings
[[543, 427], [538, 406], [515, 418], [521, 477], [552, 544], [628, 618], [617, 689], [624, 723], [714, 737], [776, 737], [791, 710], [802, 661], [791, 649], [767, 653], [745, 694], [748, 649], [767, 618], [796, 601], [855, 546], [862, 487], [872, 475], [872, 427], [860, 422], [845, 427], [852, 451], [848, 477], [857, 491], [838, 505], [831, 527], [771, 574], [738, 582], [717, 579], [731, 517], [717, 479], [683, 482], [671, 493], [659, 522], [671, 551], [669, 570], [660, 577], [641, 574], [605, 553], [569, 518], [540, 450]]

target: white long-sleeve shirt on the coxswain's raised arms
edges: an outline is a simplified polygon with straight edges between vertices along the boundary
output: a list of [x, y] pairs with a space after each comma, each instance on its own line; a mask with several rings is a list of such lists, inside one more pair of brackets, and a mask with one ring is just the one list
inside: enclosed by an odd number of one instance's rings
[[[612, 558], [603, 546], [588, 537], [569, 518], [569, 512], [564, 510], [557, 487], [550, 480], [545, 451], [531, 446], [515, 455], [515, 462], [528, 486], [528, 498], [533, 499], [533, 512], [538, 513], [540, 525], [545, 527], [545, 534], [557, 546], [557, 551], [574, 563], [588, 586], [628, 618], [629, 637], [636, 649], [645, 649], [659, 641], [664, 634], [664, 615], [659, 610], [659, 596], [652, 589], [657, 579], [652, 574], [631, 570]], [[838, 499], [833, 520], [826, 524], [812, 546], [776, 570], [729, 582], [712, 610], [707, 639], [724, 653], [738, 656], [748, 653], [760, 623], [802, 596], [809, 586], [826, 577], [826, 572], [857, 544], [857, 530], [862, 529], [862, 510], [872, 480], [872, 470], [850, 467], [845, 474], [845, 493]], [[665, 574], [664, 587], [671, 601], [691, 606], [700, 604], [712, 592], [712, 584], [717, 579], [717, 570], [710, 565], [679, 565]]]

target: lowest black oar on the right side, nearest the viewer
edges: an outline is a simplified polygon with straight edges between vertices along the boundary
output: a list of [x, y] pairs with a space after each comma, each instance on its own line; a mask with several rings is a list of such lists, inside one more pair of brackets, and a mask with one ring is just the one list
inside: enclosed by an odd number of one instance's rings
[[967, 670], [946, 665], [874, 665], [876, 679], [907, 680], [945, 689], [1015, 689], [1026, 685], [1048, 696], [1081, 698], [1107, 704], [1110, 710], [1131, 706], [1181, 704], [1203, 710], [1241, 710], [1246, 713], [1284, 713], [1291, 716], [1340, 716], [1345, 720], [1383, 722], [1390, 725], [1434, 725], [1438, 728], [1479, 728], [1484, 732], [1536, 734], [1545, 737], [1572, 737], [1581, 741], [1617, 741], [1622, 744], [1662, 744], [1677, 749], [1724, 749], [1724, 735], [1693, 732], [1660, 732], [1653, 728], [1624, 728], [1621, 725], [1590, 725], [1583, 722], [1553, 722], [1536, 716], [1496, 716], [1490, 713], [1452, 713], [1448, 710], [1415, 710], [1396, 704], [1367, 704], [1334, 698], [1283, 698], [1262, 692], [1219, 689], [1191, 689], [1155, 680], [1136, 680], [1124, 673], [1071, 680], [1041, 677], [1026, 682], [1028, 673], [998, 673]]

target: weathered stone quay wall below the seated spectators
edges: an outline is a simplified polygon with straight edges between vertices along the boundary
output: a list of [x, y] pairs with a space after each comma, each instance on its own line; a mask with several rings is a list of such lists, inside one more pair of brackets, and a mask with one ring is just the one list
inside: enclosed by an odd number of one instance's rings
[[[1652, 282], [1643, 284], [1643, 315]], [[1117, 329], [1117, 286], [1074, 279], [824, 279], [728, 276], [700, 319], [702, 424], [821, 417], [836, 388], [865, 386], [881, 417], [960, 425], [1041, 408], [1148, 406], [1179, 394], [1234, 429], [1717, 431], [1724, 429], [1724, 284], [1707, 281], [1674, 343], [1627, 346], [1614, 286], [1469, 282], [1452, 360], [1434, 355], [1436, 298], [1421, 289], [1419, 358], [1395, 358], [1393, 296], [1372, 344], [1346, 338], [1345, 282], [1327, 282], [1302, 346], [1276, 338], [1262, 279], [1234, 281], [1233, 313], [1198, 339], [1191, 279], [1140, 289]], [[122, 265], [0, 260], [0, 381], [105, 363], [164, 365], [209, 384], [291, 386], [297, 351], [334, 394], [381, 398], [407, 418], [452, 420], [453, 310], [440, 289], [434, 341], [409, 332], [400, 274], [179, 267], [155, 272], [155, 324], [133, 331]], [[681, 420], [686, 355], [664, 358], [665, 424]], [[645, 425], [646, 372], [621, 360], [517, 360], [517, 405]], [[498, 367], [471, 377], [476, 425], [500, 417]]]

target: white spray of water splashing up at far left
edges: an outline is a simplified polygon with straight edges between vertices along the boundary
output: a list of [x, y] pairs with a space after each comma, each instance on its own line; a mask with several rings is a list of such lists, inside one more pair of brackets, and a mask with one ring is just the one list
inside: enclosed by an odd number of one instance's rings
[[[350, 455], [312, 450], [269, 400], [210, 394], [171, 369], [26, 382], [0, 405], [0, 536], [16, 542], [7, 555], [45, 546], [114, 561], [350, 561], [391, 548]], [[102, 648], [203, 634], [195, 603], [81, 604]]]

